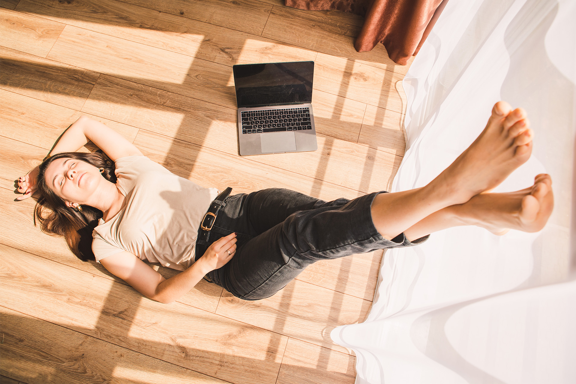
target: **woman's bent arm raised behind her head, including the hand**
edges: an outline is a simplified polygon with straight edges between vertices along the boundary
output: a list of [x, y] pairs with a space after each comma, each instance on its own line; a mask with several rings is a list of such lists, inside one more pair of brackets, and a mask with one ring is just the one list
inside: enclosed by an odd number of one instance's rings
[[[100, 123], [100, 121], [90, 119], [90, 117], [81, 116], [60, 136], [48, 156], [78, 151], [89, 140], [103, 150], [112, 161], [116, 161], [120, 157], [142, 155], [134, 144], [112, 128]], [[36, 166], [25, 176], [18, 178], [18, 192], [23, 193], [23, 195], [16, 197], [17, 200], [24, 200], [32, 196], [36, 191], [37, 175], [38, 167]]]

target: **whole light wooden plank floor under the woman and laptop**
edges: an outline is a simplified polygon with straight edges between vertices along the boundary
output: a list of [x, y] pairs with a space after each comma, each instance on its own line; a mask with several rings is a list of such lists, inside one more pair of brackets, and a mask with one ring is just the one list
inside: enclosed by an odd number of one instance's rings
[[[79, 116], [206, 187], [322, 199], [389, 188], [404, 154], [407, 67], [353, 49], [362, 18], [281, 0], [2, 0], [2, 383], [353, 383], [335, 326], [361, 322], [382, 254], [317, 263], [272, 298], [201, 282], [142, 298], [33, 225], [14, 180]], [[319, 149], [240, 157], [232, 65], [314, 60]], [[160, 268], [166, 277], [175, 271]]]

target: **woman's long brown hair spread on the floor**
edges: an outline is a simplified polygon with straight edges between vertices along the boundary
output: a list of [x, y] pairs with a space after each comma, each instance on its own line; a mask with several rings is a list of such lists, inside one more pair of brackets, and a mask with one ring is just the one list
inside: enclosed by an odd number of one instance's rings
[[70, 250], [80, 260], [95, 260], [92, 252], [92, 230], [98, 225], [102, 211], [86, 205], [82, 206], [82, 211], [67, 207], [64, 200], [56, 195], [46, 183], [45, 174], [48, 165], [63, 157], [85, 161], [96, 168], [104, 168], [102, 176], [112, 183], [116, 183], [116, 174], [114, 173], [116, 167], [114, 162], [101, 151], [59, 153], [47, 158], [39, 166], [40, 170], [36, 182], [40, 199], [34, 208], [34, 224], [36, 225], [36, 219], [38, 219], [42, 231], [63, 236]]

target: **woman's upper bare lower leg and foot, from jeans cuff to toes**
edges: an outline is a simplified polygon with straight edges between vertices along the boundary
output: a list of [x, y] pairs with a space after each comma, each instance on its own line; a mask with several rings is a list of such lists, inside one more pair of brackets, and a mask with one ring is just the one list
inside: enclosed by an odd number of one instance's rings
[[[427, 216], [496, 187], [530, 156], [532, 131], [522, 109], [498, 102], [480, 136], [428, 185], [374, 199], [372, 219], [387, 239]], [[393, 218], [391, 220], [391, 218]]]

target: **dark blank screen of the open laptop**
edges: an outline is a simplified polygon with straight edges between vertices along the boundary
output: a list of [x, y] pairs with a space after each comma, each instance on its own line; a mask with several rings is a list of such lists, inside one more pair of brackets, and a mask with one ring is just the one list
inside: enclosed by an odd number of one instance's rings
[[240, 64], [232, 70], [238, 108], [312, 102], [314, 62]]

